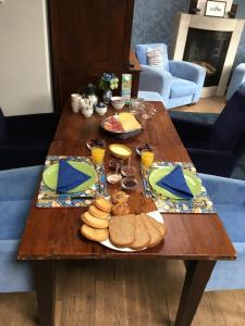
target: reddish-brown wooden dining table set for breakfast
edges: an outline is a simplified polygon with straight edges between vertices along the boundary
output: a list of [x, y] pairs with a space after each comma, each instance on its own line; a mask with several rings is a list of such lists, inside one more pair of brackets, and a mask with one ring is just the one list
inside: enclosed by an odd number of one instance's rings
[[[137, 168], [138, 186], [130, 192], [131, 202], [134, 203], [138, 192], [144, 191], [136, 146], [151, 143], [157, 161], [191, 162], [162, 103], [152, 102], [152, 104], [157, 109], [157, 114], [146, 122], [144, 131], [138, 136], [119, 140], [101, 130], [100, 124], [105, 116], [94, 114], [86, 118], [73, 113], [68, 102], [63, 108], [49, 155], [89, 156], [87, 140], [102, 138], [107, 142], [105, 167], [108, 172], [108, 162], [111, 159], [108, 146], [110, 143], [128, 146], [133, 152], [131, 162]], [[106, 116], [113, 113], [114, 110], [109, 108]], [[115, 187], [119, 188], [108, 185], [108, 192]], [[17, 258], [33, 262], [41, 326], [54, 325], [56, 273], [59, 260], [184, 261], [186, 274], [175, 326], [187, 326], [192, 324], [216, 262], [236, 258], [236, 252], [217, 214], [164, 213], [167, 234], [163, 242], [142, 251], [120, 252], [87, 240], [81, 235], [81, 214], [86, 208], [36, 208], [38, 189], [39, 186], [32, 203]]]

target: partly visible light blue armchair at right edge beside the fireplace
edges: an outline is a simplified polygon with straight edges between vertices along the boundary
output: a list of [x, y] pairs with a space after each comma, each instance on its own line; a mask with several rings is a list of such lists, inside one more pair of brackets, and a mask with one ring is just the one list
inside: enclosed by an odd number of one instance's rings
[[226, 92], [226, 100], [230, 100], [236, 90], [245, 93], [245, 63], [241, 63], [234, 68]]

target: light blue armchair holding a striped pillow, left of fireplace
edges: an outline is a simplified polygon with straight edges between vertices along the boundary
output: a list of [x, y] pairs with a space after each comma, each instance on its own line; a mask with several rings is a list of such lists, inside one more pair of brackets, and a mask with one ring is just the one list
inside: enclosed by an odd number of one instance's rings
[[[162, 48], [163, 68], [147, 65], [147, 49]], [[161, 95], [166, 109], [196, 103], [200, 98], [206, 71], [204, 67], [168, 59], [168, 48], [163, 43], [137, 45], [135, 48], [143, 72], [139, 90], [156, 91]]]

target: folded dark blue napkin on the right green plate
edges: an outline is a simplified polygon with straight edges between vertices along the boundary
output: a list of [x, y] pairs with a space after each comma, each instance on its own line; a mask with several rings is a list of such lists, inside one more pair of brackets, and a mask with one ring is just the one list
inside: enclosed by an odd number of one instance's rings
[[189, 190], [189, 188], [185, 181], [185, 177], [184, 177], [181, 165], [177, 165], [167, 176], [162, 177], [157, 183], [157, 185], [180, 198], [183, 198], [183, 199], [192, 199], [193, 198], [193, 193]]

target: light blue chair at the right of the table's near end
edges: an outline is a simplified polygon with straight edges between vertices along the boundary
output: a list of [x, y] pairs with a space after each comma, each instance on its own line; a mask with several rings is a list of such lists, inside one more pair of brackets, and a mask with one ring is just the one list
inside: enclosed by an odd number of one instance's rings
[[245, 181], [199, 174], [237, 252], [236, 261], [219, 261], [206, 291], [245, 289]]

